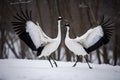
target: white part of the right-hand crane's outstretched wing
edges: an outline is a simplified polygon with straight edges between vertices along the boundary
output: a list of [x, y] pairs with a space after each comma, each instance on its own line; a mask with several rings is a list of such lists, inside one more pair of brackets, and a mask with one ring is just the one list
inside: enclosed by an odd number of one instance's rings
[[94, 45], [101, 37], [103, 37], [104, 33], [102, 27], [99, 25], [93, 29], [89, 29], [84, 35], [77, 37], [74, 39], [76, 42], [82, 44], [83, 47], [89, 48]]

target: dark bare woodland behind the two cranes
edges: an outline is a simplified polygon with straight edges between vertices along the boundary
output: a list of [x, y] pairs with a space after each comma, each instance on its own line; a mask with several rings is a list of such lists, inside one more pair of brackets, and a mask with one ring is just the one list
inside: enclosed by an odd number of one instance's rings
[[52, 38], [57, 35], [58, 16], [63, 17], [62, 43], [52, 54], [58, 61], [76, 60], [64, 44], [66, 22], [70, 23], [70, 37], [74, 38], [96, 26], [102, 15], [111, 17], [114, 23], [112, 39], [109, 44], [90, 53], [89, 61], [120, 65], [120, 0], [0, 0], [0, 59], [35, 59], [34, 52], [16, 36], [11, 25], [15, 13], [26, 8], [32, 10], [34, 22], [38, 21]]

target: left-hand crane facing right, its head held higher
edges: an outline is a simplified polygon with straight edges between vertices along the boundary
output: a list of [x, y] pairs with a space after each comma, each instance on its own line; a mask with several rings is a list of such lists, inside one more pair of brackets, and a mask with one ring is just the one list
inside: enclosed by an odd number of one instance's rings
[[[21, 40], [23, 40], [33, 51], [37, 51], [38, 58], [44, 56], [47, 57], [51, 66], [53, 67], [51, 60], [54, 59], [51, 57], [51, 53], [53, 53], [59, 47], [61, 43], [61, 17], [58, 18], [58, 34], [57, 37], [52, 39], [48, 37], [41, 27], [39, 23], [34, 23], [31, 17], [31, 11], [16, 13], [14, 18], [17, 21], [12, 22], [14, 26], [14, 30], [16, 34], [19, 36]], [[55, 66], [57, 67], [56, 62], [54, 61]]]

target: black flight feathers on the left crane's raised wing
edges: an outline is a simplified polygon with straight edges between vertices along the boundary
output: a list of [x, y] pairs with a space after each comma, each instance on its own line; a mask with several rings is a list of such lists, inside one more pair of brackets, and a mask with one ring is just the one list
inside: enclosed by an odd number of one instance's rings
[[16, 32], [16, 34], [19, 36], [21, 40], [23, 40], [32, 50], [37, 50], [31, 37], [29, 36], [29, 33], [26, 32], [26, 22], [32, 20], [31, 19], [31, 12], [29, 14], [28, 10], [26, 10], [26, 13], [24, 13], [21, 10], [21, 13], [16, 13], [16, 16], [14, 18], [17, 21], [12, 22], [12, 25], [14, 26], [13, 29]]

